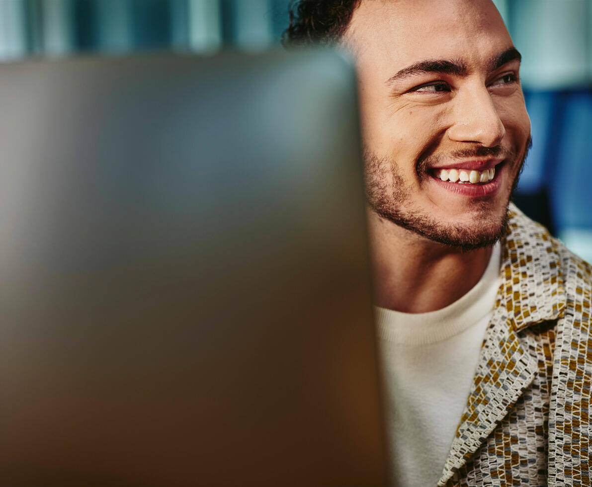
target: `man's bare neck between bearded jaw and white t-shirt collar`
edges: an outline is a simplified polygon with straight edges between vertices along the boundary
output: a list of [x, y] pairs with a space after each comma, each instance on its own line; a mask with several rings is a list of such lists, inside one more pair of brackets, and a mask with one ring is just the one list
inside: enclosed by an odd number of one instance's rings
[[487, 268], [491, 247], [461, 251], [368, 214], [375, 304], [407, 313], [436, 311], [464, 296]]

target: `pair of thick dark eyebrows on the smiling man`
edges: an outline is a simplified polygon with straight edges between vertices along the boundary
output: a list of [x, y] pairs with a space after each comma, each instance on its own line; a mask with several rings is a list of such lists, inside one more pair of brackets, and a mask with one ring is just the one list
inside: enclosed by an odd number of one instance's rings
[[[515, 47], [509, 47], [502, 53], [491, 57], [487, 63], [487, 69], [489, 72], [493, 72], [504, 64], [516, 59], [520, 61], [522, 59], [522, 55]], [[445, 75], [465, 77], [468, 75], [469, 69], [466, 63], [462, 62], [462, 60], [427, 59], [425, 61], [411, 64], [411, 66], [404, 67], [399, 72], [397, 72], [397, 74], [391, 76], [387, 80], [387, 85], [392, 85], [401, 79], [410, 78], [410, 76], [422, 75], [424, 73], [442, 73]]]

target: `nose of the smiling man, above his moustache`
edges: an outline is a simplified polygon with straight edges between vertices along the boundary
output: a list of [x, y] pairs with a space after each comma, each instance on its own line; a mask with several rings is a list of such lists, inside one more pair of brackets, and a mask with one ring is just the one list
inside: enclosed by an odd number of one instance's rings
[[448, 129], [452, 140], [485, 147], [494, 147], [501, 142], [506, 128], [485, 86], [457, 93], [454, 103], [453, 121]]

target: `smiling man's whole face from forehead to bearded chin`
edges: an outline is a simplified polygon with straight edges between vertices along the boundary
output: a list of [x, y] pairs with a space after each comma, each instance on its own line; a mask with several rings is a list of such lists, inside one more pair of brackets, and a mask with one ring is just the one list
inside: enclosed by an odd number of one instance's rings
[[440, 243], [497, 240], [530, 120], [493, 3], [362, 0], [344, 41], [358, 64], [370, 206]]

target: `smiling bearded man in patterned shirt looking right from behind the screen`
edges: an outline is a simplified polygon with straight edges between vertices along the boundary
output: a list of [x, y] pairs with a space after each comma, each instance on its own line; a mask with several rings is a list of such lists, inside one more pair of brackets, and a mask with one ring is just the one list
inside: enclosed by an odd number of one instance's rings
[[392, 477], [590, 485], [592, 277], [509, 205], [530, 146], [490, 0], [301, 0], [359, 76]]

